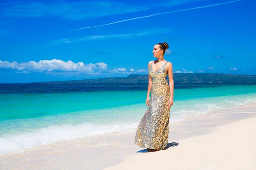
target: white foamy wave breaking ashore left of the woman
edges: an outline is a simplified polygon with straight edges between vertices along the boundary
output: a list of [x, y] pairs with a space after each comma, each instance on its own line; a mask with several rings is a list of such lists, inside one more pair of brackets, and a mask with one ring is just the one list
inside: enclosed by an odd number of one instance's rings
[[33, 132], [0, 136], [0, 155], [40, 147], [44, 144], [84, 138], [86, 136], [111, 134], [136, 128], [138, 123], [96, 125], [89, 122], [81, 125], [51, 125]]

